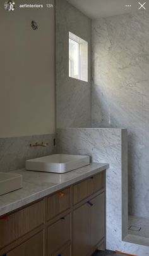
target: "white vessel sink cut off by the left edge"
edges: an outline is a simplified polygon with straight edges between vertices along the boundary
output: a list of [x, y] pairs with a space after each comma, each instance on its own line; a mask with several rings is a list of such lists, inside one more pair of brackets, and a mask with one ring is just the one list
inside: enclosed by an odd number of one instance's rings
[[22, 187], [22, 175], [0, 172], [0, 196]]

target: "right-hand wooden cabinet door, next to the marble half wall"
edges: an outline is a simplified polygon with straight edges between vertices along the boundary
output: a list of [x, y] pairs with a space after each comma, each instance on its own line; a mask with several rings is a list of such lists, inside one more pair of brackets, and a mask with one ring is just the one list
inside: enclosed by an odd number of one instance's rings
[[99, 194], [91, 201], [91, 243], [92, 246], [105, 236], [105, 194]]

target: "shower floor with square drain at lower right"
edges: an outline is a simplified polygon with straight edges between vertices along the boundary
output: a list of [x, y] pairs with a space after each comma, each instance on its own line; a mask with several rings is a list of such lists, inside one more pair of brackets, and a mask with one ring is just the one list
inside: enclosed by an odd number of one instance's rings
[[128, 234], [149, 238], [149, 219], [129, 216]]

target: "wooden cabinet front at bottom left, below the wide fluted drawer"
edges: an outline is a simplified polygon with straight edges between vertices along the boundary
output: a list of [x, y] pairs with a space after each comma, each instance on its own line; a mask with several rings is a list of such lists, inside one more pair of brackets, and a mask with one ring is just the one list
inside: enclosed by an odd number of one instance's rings
[[6, 253], [7, 256], [43, 256], [43, 232], [22, 243], [20, 246]]

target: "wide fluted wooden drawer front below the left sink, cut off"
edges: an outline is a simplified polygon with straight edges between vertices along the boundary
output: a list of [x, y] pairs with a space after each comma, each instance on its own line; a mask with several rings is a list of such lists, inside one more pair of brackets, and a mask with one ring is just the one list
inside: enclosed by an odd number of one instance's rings
[[44, 200], [0, 219], [0, 248], [44, 224]]

